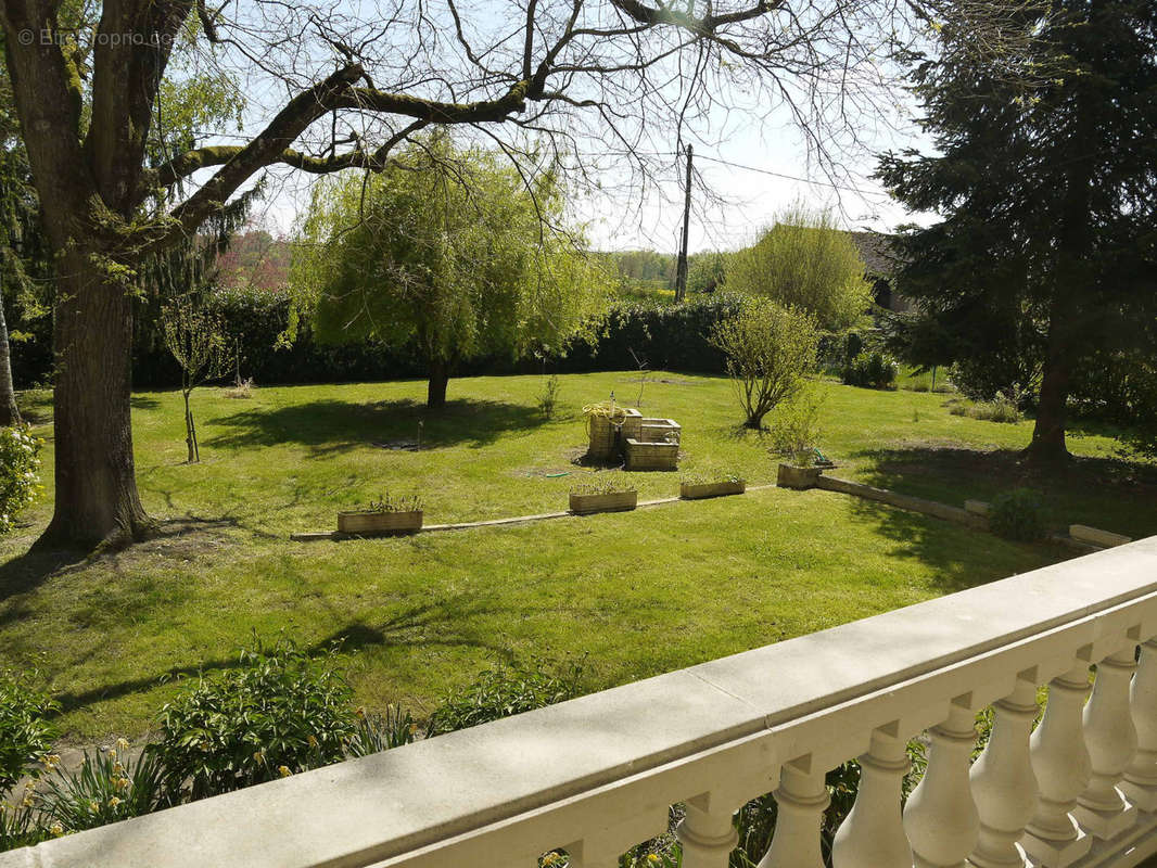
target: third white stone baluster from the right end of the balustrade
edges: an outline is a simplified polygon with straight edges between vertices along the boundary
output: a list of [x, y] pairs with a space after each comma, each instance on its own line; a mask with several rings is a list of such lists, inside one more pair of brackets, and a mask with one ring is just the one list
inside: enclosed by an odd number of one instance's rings
[[1042, 868], [1066, 868], [1092, 845], [1070, 814], [1092, 773], [1082, 722], [1088, 696], [1089, 664], [1079, 662], [1049, 682], [1045, 716], [1029, 740], [1040, 793], [1020, 844]]

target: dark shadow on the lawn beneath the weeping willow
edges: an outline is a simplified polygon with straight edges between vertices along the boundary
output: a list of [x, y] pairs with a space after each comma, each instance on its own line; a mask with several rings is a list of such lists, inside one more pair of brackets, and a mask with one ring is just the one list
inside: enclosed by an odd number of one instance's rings
[[401, 447], [417, 443], [419, 437], [423, 449], [462, 443], [480, 448], [503, 434], [530, 431], [546, 421], [535, 407], [499, 400], [450, 400], [442, 410], [428, 411], [410, 398], [373, 403], [326, 399], [216, 417], [204, 428], [220, 433], [201, 440], [219, 448], [300, 443], [316, 455], [375, 443]]

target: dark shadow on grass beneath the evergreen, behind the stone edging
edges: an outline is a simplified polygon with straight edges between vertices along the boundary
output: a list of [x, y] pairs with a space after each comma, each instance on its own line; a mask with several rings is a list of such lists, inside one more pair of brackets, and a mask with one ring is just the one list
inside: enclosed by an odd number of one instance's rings
[[1026, 464], [1019, 451], [959, 447], [893, 447], [853, 457], [860, 479], [951, 506], [992, 500], [1010, 488], [1041, 494], [1053, 530], [1091, 524], [1135, 538], [1157, 534], [1157, 466], [1120, 458], [1077, 456], [1057, 468]]

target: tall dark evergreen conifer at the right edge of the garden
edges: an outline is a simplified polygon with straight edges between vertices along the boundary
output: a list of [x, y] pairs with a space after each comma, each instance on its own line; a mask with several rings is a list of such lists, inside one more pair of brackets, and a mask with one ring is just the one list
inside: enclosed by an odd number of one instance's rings
[[901, 290], [979, 391], [1038, 390], [1027, 456], [1047, 462], [1084, 372], [1154, 355], [1157, 5], [1060, 0], [1038, 29], [995, 66], [945, 24], [937, 58], [909, 58], [938, 154], [887, 154], [879, 176], [944, 218], [901, 237]]

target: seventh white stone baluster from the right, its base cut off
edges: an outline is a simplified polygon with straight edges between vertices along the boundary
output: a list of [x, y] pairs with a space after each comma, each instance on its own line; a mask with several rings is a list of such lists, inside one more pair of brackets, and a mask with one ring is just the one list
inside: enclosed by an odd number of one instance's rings
[[775, 834], [759, 868], [824, 868], [819, 824], [831, 799], [824, 772], [811, 771], [810, 762], [808, 757], [803, 766], [789, 763], [780, 772], [780, 788], [775, 790]]

